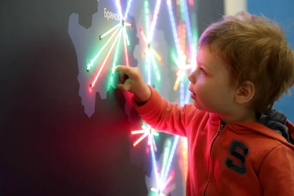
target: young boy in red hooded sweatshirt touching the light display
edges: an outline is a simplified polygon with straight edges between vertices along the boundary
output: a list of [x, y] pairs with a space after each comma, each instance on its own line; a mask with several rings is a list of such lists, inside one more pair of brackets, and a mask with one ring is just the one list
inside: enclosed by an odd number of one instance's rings
[[294, 125], [272, 109], [294, 84], [285, 34], [265, 17], [223, 17], [201, 35], [196, 61], [194, 103], [184, 107], [161, 98], [139, 69], [116, 68], [146, 123], [187, 137], [187, 196], [294, 196]]

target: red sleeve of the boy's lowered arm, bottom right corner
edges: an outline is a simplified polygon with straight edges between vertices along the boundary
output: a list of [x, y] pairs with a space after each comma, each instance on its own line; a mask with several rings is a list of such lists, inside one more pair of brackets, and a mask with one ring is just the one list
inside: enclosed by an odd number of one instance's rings
[[259, 173], [264, 196], [294, 195], [294, 150], [277, 146], [264, 158]]

